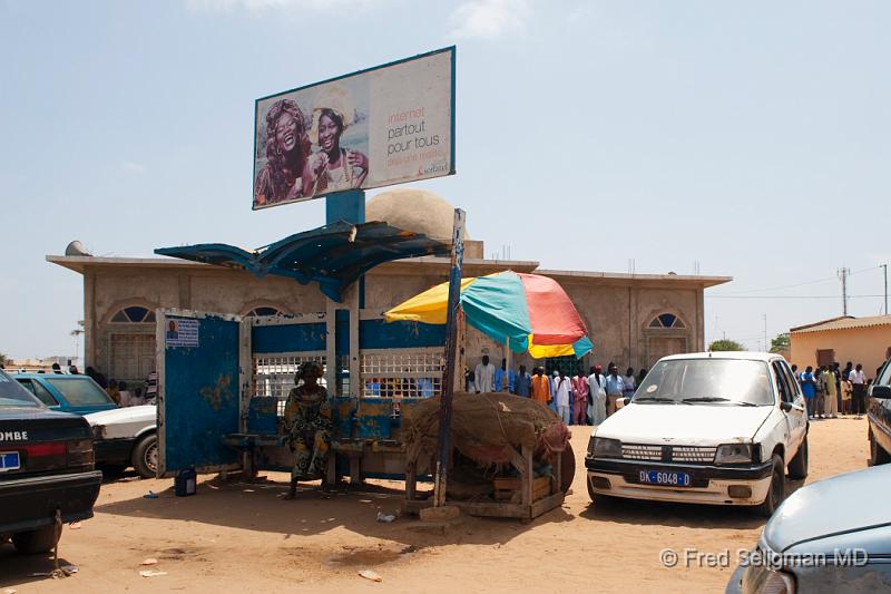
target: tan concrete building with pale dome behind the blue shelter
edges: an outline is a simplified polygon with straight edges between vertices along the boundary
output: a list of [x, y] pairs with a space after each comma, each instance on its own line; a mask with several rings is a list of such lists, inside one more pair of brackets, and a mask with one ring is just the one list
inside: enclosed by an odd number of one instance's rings
[[[385, 221], [402, 230], [449, 241], [453, 206], [418, 188], [395, 188], [368, 201], [366, 221]], [[547, 368], [615, 361], [621, 370], [649, 368], [666, 354], [702, 351], [704, 290], [727, 276], [621, 274], [598, 271], [542, 270], [533, 261], [483, 257], [483, 242], [469, 238], [464, 276], [505, 270], [535, 272], [558, 281], [588, 328], [595, 349], [578, 363], [532, 361], [515, 357], [515, 366]], [[155, 369], [155, 310], [176, 308], [238, 315], [306, 314], [331, 311], [317, 285], [293, 279], [257, 279], [243, 270], [169, 257], [96, 257], [49, 255], [47, 260], [84, 277], [85, 364], [109, 378], [141, 382]], [[364, 276], [362, 317], [380, 315], [402, 301], [448, 280], [448, 257], [422, 256], [388, 262]], [[496, 362], [497, 344], [472, 329], [466, 337], [466, 360], [472, 368], [482, 354]]]

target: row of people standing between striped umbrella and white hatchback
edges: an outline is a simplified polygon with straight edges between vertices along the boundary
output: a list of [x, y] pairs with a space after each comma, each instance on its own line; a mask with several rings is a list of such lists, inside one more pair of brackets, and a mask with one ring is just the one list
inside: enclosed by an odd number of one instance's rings
[[531, 372], [526, 366], [519, 366], [517, 371], [508, 369], [505, 359], [496, 368], [484, 354], [473, 371], [467, 372], [466, 388], [468, 392], [508, 391], [531, 398], [552, 408], [566, 425], [599, 425], [618, 410], [620, 398], [634, 396], [646, 374], [646, 369], [635, 374], [629, 367], [623, 376], [618, 366], [610, 362], [606, 374], [603, 366], [594, 366], [587, 374], [579, 367], [571, 377], [565, 369], [555, 369], [548, 376], [544, 367]]

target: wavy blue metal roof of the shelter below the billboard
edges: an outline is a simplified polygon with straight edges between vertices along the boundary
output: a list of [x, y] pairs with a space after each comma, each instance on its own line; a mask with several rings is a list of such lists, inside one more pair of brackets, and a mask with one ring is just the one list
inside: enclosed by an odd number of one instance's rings
[[386, 223], [352, 225], [343, 221], [253, 251], [225, 243], [155, 250], [160, 255], [246, 270], [257, 277], [274, 274], [302, 284], [317, 282], [322, 293], [337, 302], [344, 288], [378, 264], [449, 252], [446, 243]]

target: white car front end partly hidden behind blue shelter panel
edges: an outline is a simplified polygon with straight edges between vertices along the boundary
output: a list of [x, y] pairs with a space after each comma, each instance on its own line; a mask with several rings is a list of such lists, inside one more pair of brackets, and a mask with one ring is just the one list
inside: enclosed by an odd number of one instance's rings
[[96, 466], [114, 473], [133, 466], [155, 478], [158, 469], [157, 407], [116, 408], [85, 415], [92, 428]]

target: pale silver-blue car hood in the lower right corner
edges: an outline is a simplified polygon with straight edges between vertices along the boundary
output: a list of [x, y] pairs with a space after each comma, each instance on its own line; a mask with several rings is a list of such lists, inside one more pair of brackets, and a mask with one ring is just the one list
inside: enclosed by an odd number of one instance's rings
[[820, 480], [793, 493], [764, 526], [775, 553], [855, 546], [891, 554], [888, 486], [891, 465]]

